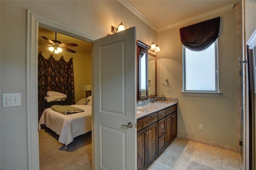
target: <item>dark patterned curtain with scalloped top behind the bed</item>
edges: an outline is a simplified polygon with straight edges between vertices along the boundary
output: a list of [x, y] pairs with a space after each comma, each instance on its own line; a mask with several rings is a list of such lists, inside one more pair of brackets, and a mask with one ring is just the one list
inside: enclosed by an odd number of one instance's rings
[[66, 103], [74, 104], [73, 58], [69, 62], [62, 56], [55, 60], [53, 55], [45, 59], [42, 52], [38, 54], [38, 118], [45, 109], [44, 97], [47, 91], [60, 92], [67, 95]]

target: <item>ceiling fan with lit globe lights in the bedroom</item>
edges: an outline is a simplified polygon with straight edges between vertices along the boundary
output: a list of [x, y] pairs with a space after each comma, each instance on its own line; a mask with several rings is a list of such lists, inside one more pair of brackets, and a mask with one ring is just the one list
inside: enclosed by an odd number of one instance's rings
[[55, 54], [59, 54], [60, 52], [62, 52], [62, 50], [66, 50], [68, 52], [76, 53], [76, 51], [71, 50], [66, 47], [74, 47], [74, 46], [78, 46], [78, 45], [75, 43], [62, 44], [60, 41], [57, 40], [57, 32], [55, 32], [55, 40], [50, 40], [49, 38], [47, 38], [45, 36], [41, 36], [41, 37], [44, 38], [46, 41], [48, 41], [50, 44], [40, 44], [40, 45], [50, 46], [48, 48], [50, 52], [54, 51]]

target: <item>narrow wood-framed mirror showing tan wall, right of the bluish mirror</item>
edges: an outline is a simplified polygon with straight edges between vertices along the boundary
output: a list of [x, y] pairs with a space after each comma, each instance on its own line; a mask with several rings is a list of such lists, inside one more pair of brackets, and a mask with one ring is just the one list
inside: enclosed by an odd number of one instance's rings
[[156, 92], [156, 55], [148, 50], [148, 97], [157, 95]]

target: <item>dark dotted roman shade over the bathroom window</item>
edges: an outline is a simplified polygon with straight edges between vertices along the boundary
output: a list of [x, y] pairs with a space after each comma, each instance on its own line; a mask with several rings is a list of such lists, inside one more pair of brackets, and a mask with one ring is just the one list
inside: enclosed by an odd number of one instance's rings
[[192, 51], [208, 48], [218, 38], [220, 17], [180, 28], [180, 41]]

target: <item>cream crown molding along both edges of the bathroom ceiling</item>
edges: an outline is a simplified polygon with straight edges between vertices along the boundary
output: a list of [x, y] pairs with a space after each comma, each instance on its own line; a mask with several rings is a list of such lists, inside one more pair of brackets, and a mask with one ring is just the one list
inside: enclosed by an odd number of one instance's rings
[[145, 22], [148, 26], [150, 26], [150, 28], [152, 28], [153, 30], [155, 30], [156, 32], [161, 32], [164, 30], [168, 30], [170, 28], [174, 28], [177, 26], [183, 26], [186, 25], [188, 23], [191, 22], [195, 22], [197, 20], [201, 20], [216, 14], [220, 14], [222, 12], [226, 12], [228, 10], [231, 10], [234, 5], [227, 5], [227, 6], [223, 6], [221, 8], [217, 8], [215, 10], [211, 10], [209, 12], [188, 18], [186, 20], [182, 20], [180, 22], [176, 22], [174, 24], [170, 24], [161, 28], [158, 28], [156, 25], [154, 25], [150, 20], [148, 20], [148, 18], [146, 18], [142, 13], [140, 13], [136, 8], [134, 8], [134, 6], [132, 6], [127, 0], [118, 0], [118, 2], [120, 2], [120, 4], [122, 4], [124, 7], [126, 7], [128, 10], [130, 10], [133, 14], [135, 14], [138, 18], [140, 18], [140, 20], [142, 20], [143, 22]]

